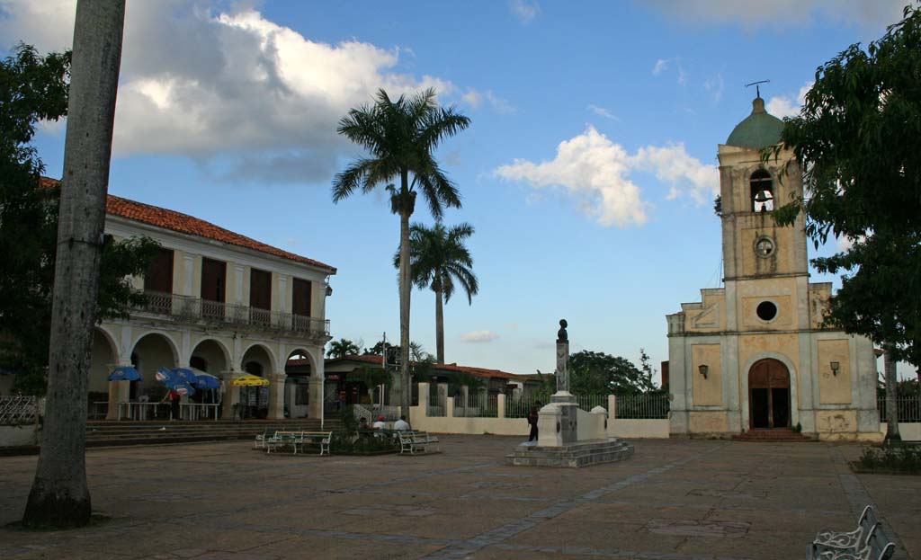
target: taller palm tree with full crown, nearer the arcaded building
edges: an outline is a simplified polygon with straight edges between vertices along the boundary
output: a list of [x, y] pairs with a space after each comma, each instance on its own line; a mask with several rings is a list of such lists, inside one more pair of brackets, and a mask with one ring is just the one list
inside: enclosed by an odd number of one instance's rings
[[[445, 206], [460, 208], [461, 196], [438, 167], [433, 152], [442, 140], [470, 126], [470, 119], [453, 107], [439, 108], [435, 90], [391, 100], [383, 89], [375, 103], [349, 111], [337, 129], [370, 153], [353, 162], [332, 181], [332, 202], [353, 192], [372, 192], [375, 187], [399, 179], [399, 188], [387, 185], [391, 212], [400, 216], [400, 404], [409, 413], [409, 298], [412, 280], [409, 260], [409, 218], [417, 192], [422, 192], [436, 219]], [[412, 180], [410, 179], [412, 176]]]

